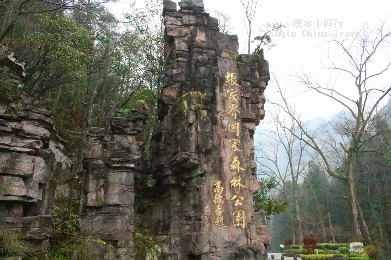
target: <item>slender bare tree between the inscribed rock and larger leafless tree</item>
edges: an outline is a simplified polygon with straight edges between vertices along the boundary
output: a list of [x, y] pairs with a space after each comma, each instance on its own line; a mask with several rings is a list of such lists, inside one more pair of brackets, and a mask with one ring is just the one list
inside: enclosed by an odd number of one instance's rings
[[[298, 138], [302, 133], [297, 123], [286, 117], [281, 118], [279, 107], [274, 108], [275, 110], [268, 114], [270, 121], [263, 124], [266, 127], [262, 129], [261, 135], [265, 141], [256, 150], [256, 161], [261, 166], [261, 174], [274, 175], [280, 181], [279, 190], [283, 194], [287, 188], [293, 192], [298, 234], [296, 242], [302, 244], [303, 227], [298, 200], [298, 181], [308, 165], [309, 160], [305, 160], [304, 155], [307, 145]], [[281, 160], [282, 158], [284, 160]]]

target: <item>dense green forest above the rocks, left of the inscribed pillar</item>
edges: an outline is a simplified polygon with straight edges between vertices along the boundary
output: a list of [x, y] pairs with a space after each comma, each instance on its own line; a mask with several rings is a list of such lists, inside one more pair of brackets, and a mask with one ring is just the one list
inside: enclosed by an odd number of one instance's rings
[[2, 53], [23, 65], [23, 76], [1, 71], [1, 110], [52, 111], [75, 161], [89, 129], [107, 128], [138, 100], [155, 109], [163, 83], [162, 1], [133, 1], [123, 21], [105, 7], [112, 2], [0, 2]]

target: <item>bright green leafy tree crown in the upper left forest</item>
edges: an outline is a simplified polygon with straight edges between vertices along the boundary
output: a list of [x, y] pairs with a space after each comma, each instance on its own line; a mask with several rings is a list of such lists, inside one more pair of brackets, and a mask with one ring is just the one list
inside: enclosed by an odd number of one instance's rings
[[65, 16], [43, 13], [35, 19], [34, 29], [23, 25], [27, 33], [10, 39], [21, 59], [28, 61], [24, 90], [34, 97], [32, 102], [61, 85], [85, 84], [95, 40], [85, 27]]

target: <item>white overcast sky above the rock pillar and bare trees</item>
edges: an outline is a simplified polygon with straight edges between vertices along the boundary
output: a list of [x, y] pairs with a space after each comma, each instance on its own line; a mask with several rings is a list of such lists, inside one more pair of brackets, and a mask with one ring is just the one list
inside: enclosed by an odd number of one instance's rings
[[[109, 5], [110, 11], [117, 15], [130, 11], [131, 0], [121, 0], [119, 3]], [[142, 4], [144, 0], [137, 0]], [[233, 26], [232, 33], [239, 37], [239, 53], [246, 53], [246, 27], [243, 17], [244, 11], [238, 0], [204, 0], [205, 8], [213, 13], [214, 10], [222, 11], [231, 15], [230, 23]], [[304, 71], [313, 75], [318, 74], [319, 64], [324, 61], [325, 56], [317, 46], [320, 46], [329, 38], [303, 36], [303, 30], [316, 32], [353, 32], [361, 28], [364, 23], [373, 26], [379, 23], [379, 19], [391, 21], [391, 1], [390, 0], [263, 0], [261, 8], [253, 21], [254, 32], [265, 22], [282, 22], [289, 26], [284, 30], [285, 38], [282, 36], [272, 37], [276, 44], [271, 50], [265, 48], [265, 58], [269, 61], [270, 70], [276, 75], [280, 85], [286, 86], [291, 83], [291, 90], [297, 88], [296, 83], [289, 75], [294, 75], [296, 71]], [[294, 28], [293, 22], [296, 19], [302, 20], [302, 28]], [[324, 19], [332, 19], [338, 23], [333, 24], [333, 28], [324, 28]], [[304, 27], [304, 20], [322, 21], [322, 25], [311, 25]], [[335, 25], [338, 28], [334, 28]], [[287, 33], [296, 33], [296, 37], [288, 37]], [[253, 44], [254, 46], [255, 43]], [[254, 48], [252, 48], [254, 49]], [[348, 84], [349, 81], [346, 81]], [[273, 99], [273, 92], [276, 85], [273, 80], [269, 82], [266, 89], [266, 97]], [[312, 93], [300, 94], [291, 92], [294, 102], [299, 110], [303, 111], [306, 118], [325, 117], [339, 112], [341, 107], [330, 100], [314, 96]], [[267, 106], [266, 106], [267, 109]], [[267, 114], [266, 114], [267, 115]]]

